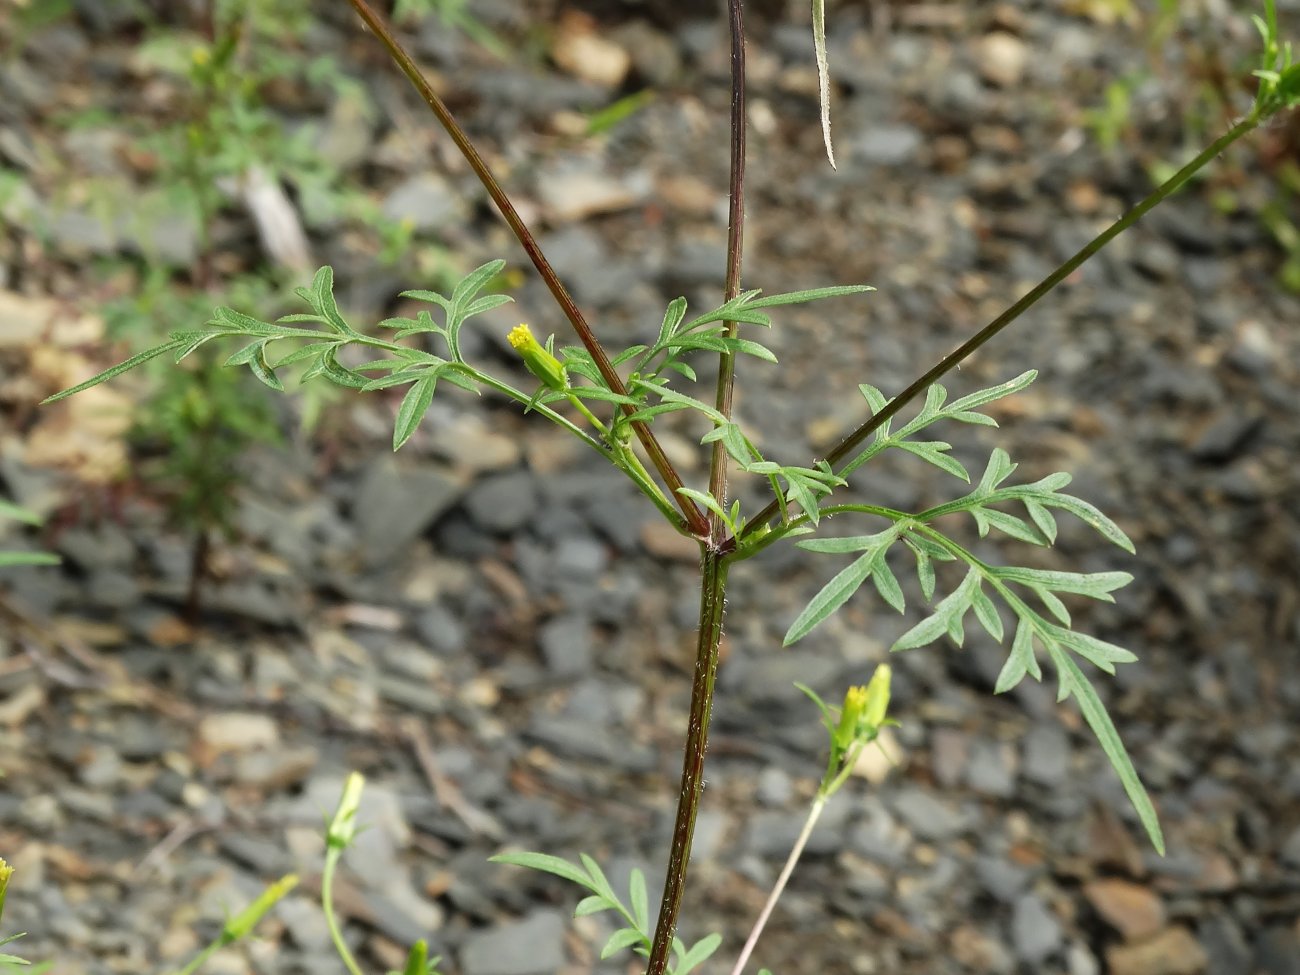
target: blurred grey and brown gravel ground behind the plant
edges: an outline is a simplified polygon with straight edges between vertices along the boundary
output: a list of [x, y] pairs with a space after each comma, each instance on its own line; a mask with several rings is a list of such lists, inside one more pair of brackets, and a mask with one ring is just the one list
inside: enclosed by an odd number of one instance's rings
[[[844, 4], [829, 20], [831, 173], [807, 14], [772, 6], [751, 13], [745, 283], [879, 289], [790, 309], [771, 335], [780, 365], [744, 368], [763, 385], [742, 389], [740, 417], [764, 451], [797, 460], [858, 422], [855, 384], [897, 391], [1140, 199], [1152, 165], [1196, 144], [1204, 79], [1186, 31], [1153, 53], [1106, 22], [1109, 4]], [[6, 543], [65, 559], [3, 580], [0, 854], [20, 871], [6, 930], [26, 930], [23, 953], [55, 971], [170, 970], [298, 870], [304, 889], [264, 939], [208, 971], [334, 971], [312, 900], [321, 814], [360, 770], [372, 828], [339, 901], [372, 970], [400, 967], [402, 946], [428, 936], [464, 975], [633, 971], [598, 959], [607, 922], [571, 919], [571, 888], [486, 858], [585, 852], [619, 889], [638, 866], [659, 876], [689, 699], [692, 547], [598, 459], [507, 404], [439, 394], [394, 458], [399, 400], [339, 398], [316, 438], [244, 458], [238, 537], [217, 547], [202, 623], [186, 624], [188, 543], [157, 499], [55, 467], [52, 443], [117, 442], [96, 425], [105, 402], [32, 410], [58, 374], [43, 356], [108, 361], [86, 315], [92, 269], [138, 248], [81, 208], [74, 182], [44, 177], [43, 159], [82, 176], [113, 159], [96, 142], [112, 125], [65, 131], [58, 112], [131, 109], [105, 81], [136, 42], [130, 14], [78, 9], [0, 62], [0, 161], [21, 183], [0, 207], [0, 481], [52, 516], [43, 536]], [[604, 47], [564, 70], [559, 39], [581, 21], [536, 4], [474, 9], [520, 44], [549, 39], [552, 60], [500, 64], [436, 22], [412, 43], [601, 334], [653, 334], [680, 294], [716, 304], [722, 20], [592, 5], [588, 36]], [[1236, 65], [1249, 25], [1204, 17], [1219, 62]], [[410, 217], [421, 246], [447, 244], [464, 269], [504, 256], [526, 272], [445, 140], [412, 129], [420, 107], [377, 48], [344, 16], [317, 40], [378, 107], [368, 120], [321, 107], [322, 152]], [[624, 77], [592, 66], [601, 51], [619, 64], [621, 52]], [[1121, 144], [1098, 148], [1086, 109], [1153, 56]], [[644, 86], [658, 96], [608, 134], [573, 134], [576, 113]], [[1005, 651], [974, 636], [913, 651], [892, 660], [897, 767], [867, 770], [827, 811], [759, 946], [774, 972], [1300, 972], [1300, 307], [1257, 216], [1295, 146], [1286, 127], [1258, 134], [949, 384], [957, 395], [1039, 369], [1000, 404], [1001, 428], [957, 455], [982, 468], [1000, 445], [1030, 477], [1071, 471], [1072, 490], [1138, 543], [1132, 558], [1062, 532], [1036, 564], [1136, 577], [1078, 619], [1141, 656], [1102, 693], [1169, 855], [1149, 850], [1054, 686], [994, 698]], [[55, 217], [40, 238], [21, 216], [31, 205]], [[221, 239], [251, 260], [250, 221], [224, 220]], [[165, 213], [136, 233], [173, 254], [196, 246]], [[341, 268], [359, 321], [422, 286], [325, 230], [312, 246]], [[515, 296], [467, 337], [500, 369], [514, 368], [500, 341], [514, 321], [562, 329], [530, 274]], [[664, 442], [703, 480], [702, 430], [676, 419]], [[950, 497], [939, 478], [887, 456], [855, 490], [924, 506]], [[792, 682], [838, 697], [918, 619], [858, 598], [780, 650], [833, 571], [779, 549], [732, 573], [684, 922], [689, 937], [722, 931], [720, 958], [734, 957], [824, 760]]]

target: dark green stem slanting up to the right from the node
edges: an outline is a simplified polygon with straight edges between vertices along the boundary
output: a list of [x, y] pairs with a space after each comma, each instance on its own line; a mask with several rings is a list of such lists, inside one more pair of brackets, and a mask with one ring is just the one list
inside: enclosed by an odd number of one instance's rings
[[[1240, 139], [1243, 135], [1251, 133], [1262, 120], [1264, 116], [1258, 110], [1252, 112], [1240, 122], [1228, 129], [1223, 135], [1217, 138], [1210, 143], [1200, 155], [1196, 156], [1191, 162], [1179, 169], [1174, 176], [1161, 183], [1156, 190], [1147, 196], [1141, 203], [1124, 213], [1119, 220], [1108, 226], [1100, 234], [1097, 234], [1092, 240], [1083, 246], [1078, 254], [1075, 254], [1070, 260], [1062, 264], [1060, 268], [1048, 274], [1043, 281], [1040, 281], [1028, 294], [1026, 294], [1020, 300], [1008, 308], [1005, 312], [998, 315], [993, 321], [982, 328], [968, 339], [966, 339], [956, 350], [940, 359], [935, 365], [928, 369], [923, 376], [918, 377], [907, 389], [889, 400], [879, 413], [872, 416], [870, 420], [863, 422], [858, 429], [845, 437], [840, 443], [826, 455], [827, 463], [831, 467], [837, 465], [845, 458], [848, 458], [867, 437], [880, 429], [881, 425], [890, 417], [893, 417], [900, 410], [902, 410], [907, 403], [914, 400], [927, 389], [930, 389], [935, 382], [942, 378], [945, 374], [961, 365], [966, 359], [968, 359], [980, 346], [993, 338], [998, 332], [1005, 329], [1013, 321], [1019, 318], [1024, 312], [1032, 308], [1037, 302], [1048, 294], [1052, 289], [1070, 277], [1075, 270], [1078, 270], [1084, 261], [1087, 261], [1092, 255], [1110, 243], [1115, 237], [1122, 234], [1124, 230], [1131, 228], [1139, 220], [1141, 220], [1152, 208], [1157, 204], [1164, 203], [1174, 192], [1179, 190], [1188, 179], [1191, 179], [1196, 173], [1204, 169], [1216, 156], [1218, 156], [1223, 150], [1231, 146], [1234, 142]], [[758, 515], [753, 517], [749, 526], [745, 529], [744, 534], [749, 534], [757, 530], [760, 525], [766, 525], [777, 511], [776, 502], [768, 503]], [[731, 551], [734, 547], [734, 540], [731, 540], [724, 545], [725, 551]]]

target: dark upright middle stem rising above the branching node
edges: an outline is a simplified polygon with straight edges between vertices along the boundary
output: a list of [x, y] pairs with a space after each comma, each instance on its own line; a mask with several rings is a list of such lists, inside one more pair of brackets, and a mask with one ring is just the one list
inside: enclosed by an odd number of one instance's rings
[[[745, 238], [745, 13], [742, 0], [728, 0], [732, 46], [732, 116], [731, 116], [731, 208], [727, 217], [727, 294], [731, 300], [740, 294], [740, 265]], [[727, 334], [736, 337], [736, 322], [727, 322]], [[714, 407], [728, 420], [732, 415], [732, 390], [736, 385], [736, 356], [723, 352], [718, 363], [718, 393]], [[708, 459], [708, 493], [727, 507], [727, 448], [714, 441]], [[722, 537], [722, 517], [708, 515], [710, 537]]]

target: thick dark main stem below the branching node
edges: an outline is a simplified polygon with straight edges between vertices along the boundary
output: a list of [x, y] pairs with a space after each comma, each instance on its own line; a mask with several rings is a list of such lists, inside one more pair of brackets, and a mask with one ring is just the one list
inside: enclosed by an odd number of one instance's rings
[[681, 789], [677, 793], [677, 818], [672, 827], [672, 849], [668, 874], [663, 881], [663, 901], [646, 975], [663, 975], [668, 967], [677, 914], [686, 885], [690, 841], [699, 812], [699, 794], [705, 788], [705, 750], [708, 745], [708, 719], [714, 708], [714, 680], [718, 676], [718, 646], [723, 637], [723, 607], [727, 594], [725, 556], [701, 546], [699, 634], [696, 644], [696, 677], [690, 689], [690, 719], [686, 725], [686, 748], [681, 764]]

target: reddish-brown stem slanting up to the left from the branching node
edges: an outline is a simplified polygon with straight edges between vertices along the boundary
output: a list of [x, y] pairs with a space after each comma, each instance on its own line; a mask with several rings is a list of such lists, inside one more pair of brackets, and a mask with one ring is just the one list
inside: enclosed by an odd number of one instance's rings
[[[446, 107], [446, 104], [443, 104], [442, 99], [438, 98], [438, 94], [425, 79], [419, 66], [416, 66], [415, 61], [398, 42], [396, 36], [394, 36], [393, 31], [389, 30], [384, 18], [380, 17], [380, 14], [376, 13], [365, 0], [348, 0], [348, 3], [352, 5], [352, 9], [356, 10], [358, 16], [365, 21], [365, 26], [368, 26], [384, 47], [387, 48], [389, 56], [396, 66], [402, 69], [402, 73], [407, 77], [411, 84], [415, 86], [416, 91], [420, 92], [420, 98], [424, 99], [425, 104], [437, 117], [438, 124], [442, 125], [447, 135], [451, 136], [451, 140], [456, 144], [456, 148], [460, 150], [460, 155], [465, 157], [465, 161], [469, 162], [469, 168], [474, 170], [474, 176], [478, 177], [478, 182], [482, 183], [488, 195], [491, 196], [493, 203], [497, 204], [497, 209], [500, 211], [502, 217], [504, 217], [506, 224], [514, 231], [515, 238], [533, 261], [533, 266], [537, 268], [537, 273], [542, 276], [542, 281], [546, 282], [546, 287], [550, 290], [555, 303], [560, 307], [560, 311], [564, 312], [564, 317], [568, 318], [569, 324], [573, 326], [573, 332], [577, 334], [578, 341], [581, 341], [582, 346], [592, 355], [592, 360], [595, 363], [595, 368], [601, 372], [601, 377], [611, 390], [619, 395], [628, 395], [628, 389], [624, 385], [623, 378], [614, 368], [614, 364], [610, 361], [610, 356], [606, 354], [603, 346], [601, 346], [597, 341], [595, 334], [592, 332], [592, 326], [588, 325], [586, 318], [577, 307], [577, 303], [573, 300], [572, 295], [569, 295], [568, 289], [566, 289], [563, 282], [559, 280], [559, 276], [550, 265], [550, 261], [546, 260], [546, 256], [542, 254], [542, 250], [537, 243], [537, 238], [533, 237], [533, 233], [519, 216], [515, 205], [510, 202], [510, 198], [497, 181], [497, 177], [493, 176], [491, 170], [488, 168], [482, 156], [478, 155], [478, 150], [474, 148], [474, 144], [469, 140], [465, 130], [460, 127], [460, 124], [451, 114], [451, 110]], [[633, 407], [627, 404], [623, 406], [623, 410], [627, 413], [634, 412]], [[664, 454], [659, 441], [655, 439], [650, 428], [644, 422], [633, 422], [632, 429], [637, 434], [637, 439], [641, 441], [641, 446], [645, 447], [650, 464], [659, 472], [659, 477], [662, 477], [663, 482], [667, 485], [668, 493], [681, 508], [684, 526], [686, 530], [697, 538], [707, 538], [708, 520], [693, 500], [679, 493], [679, 489], [684, 486], [681, 477], [668, 460], [668, 455]]]

